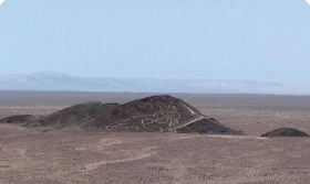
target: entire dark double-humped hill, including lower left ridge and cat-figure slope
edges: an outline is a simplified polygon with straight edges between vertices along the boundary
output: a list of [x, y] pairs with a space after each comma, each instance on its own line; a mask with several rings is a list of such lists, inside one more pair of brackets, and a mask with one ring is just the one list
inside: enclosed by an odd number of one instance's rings
[[184, 100], [168, 95], [142, 98], [124, 105], [80, 104], [33, 120], [27, 126], [128, 132], [239, 133], [213, 118], [206, 118]]

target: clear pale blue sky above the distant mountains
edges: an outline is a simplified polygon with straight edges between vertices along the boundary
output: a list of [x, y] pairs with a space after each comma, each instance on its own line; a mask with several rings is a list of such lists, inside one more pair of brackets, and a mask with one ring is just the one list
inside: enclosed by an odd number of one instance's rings
[[304, 0], [6, 0], [0, 74], [310, 84]]

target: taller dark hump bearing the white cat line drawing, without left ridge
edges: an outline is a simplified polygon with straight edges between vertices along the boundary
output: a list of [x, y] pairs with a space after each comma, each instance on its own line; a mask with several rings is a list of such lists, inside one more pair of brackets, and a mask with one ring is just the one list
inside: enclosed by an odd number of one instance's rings
[[216, 120], [207, 119], [184, 100], [168, 95], [130, 101], [82, 127], [107, 131], [238, 133]]

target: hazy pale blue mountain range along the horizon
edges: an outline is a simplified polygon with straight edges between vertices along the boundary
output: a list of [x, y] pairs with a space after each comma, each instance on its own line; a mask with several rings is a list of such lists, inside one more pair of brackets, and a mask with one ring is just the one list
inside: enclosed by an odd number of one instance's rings
[[310, 95], [310, 87], [250, 80], [74, 77], [59, 73], [0, 75], [0, 90]]

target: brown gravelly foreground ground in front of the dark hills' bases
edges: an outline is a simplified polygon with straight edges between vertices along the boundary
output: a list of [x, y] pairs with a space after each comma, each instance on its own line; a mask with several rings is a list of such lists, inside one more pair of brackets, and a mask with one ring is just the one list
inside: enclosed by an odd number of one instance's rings
[[0, 183], [304, 183], [310, 139], [0, 125]]

